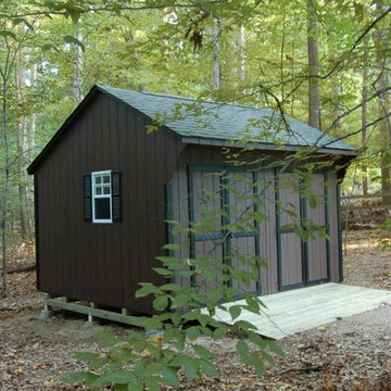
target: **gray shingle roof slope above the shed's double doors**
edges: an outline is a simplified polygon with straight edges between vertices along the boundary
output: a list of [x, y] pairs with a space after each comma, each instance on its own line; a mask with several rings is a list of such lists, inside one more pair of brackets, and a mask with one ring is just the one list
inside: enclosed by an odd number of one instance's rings
[[[248, 105], [202, 102], [194, 99], [130, 91], [109, 86], [98, 88], [163, 124], [182, 137], [197, 137], [285, 146], [312, 146], [349, 150], [355, 148], [278, 111]], [[201, 108], [201, 110], [200, 110]], [[173, 121], [173, 115], [175, 119]], [[165, 119], [167, 119], [165, 122]]]

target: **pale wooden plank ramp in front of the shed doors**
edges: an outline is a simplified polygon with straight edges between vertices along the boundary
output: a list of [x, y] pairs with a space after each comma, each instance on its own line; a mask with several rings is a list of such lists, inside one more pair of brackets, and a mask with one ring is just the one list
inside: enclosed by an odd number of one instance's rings
[[[261, 300], [267, 306], [264, 315], [243, 311], [237, 320], [248, 320], [257, 327], [260, 335], [279, 340], [381, 304], [391, 305], [391, 291], [330, 282], [269, 294]], [[229, 303], [227, 307], [239, 303], [244, 301]], [[216, 318], [232, 324], [227, 312], [217, 311]]]

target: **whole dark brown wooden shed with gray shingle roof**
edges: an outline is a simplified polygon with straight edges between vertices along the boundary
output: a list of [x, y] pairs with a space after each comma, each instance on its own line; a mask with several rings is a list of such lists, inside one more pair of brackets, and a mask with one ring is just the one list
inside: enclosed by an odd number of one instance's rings
[[[202, 217], [204, 207], [218, 214], [220, 201], [209, 197], [210, 191], [219, 191], [228, 204], [237, 203], [237, 211], [249, 209], [238, 192], [261, 179], [268, 184], [257, 190], [267, 219], [249, 230], [234, 230], [217, 247], [213, 241], [225, 234], [218, 226], [213, 235], [171, 237], [190, 241], [181, 255], [213, 251], [223, 260], [226, 245], [244, 256], [261, 255], [268, 267], [250, 287], [260, 294], [342, 280], [339, 182], [355, 149], [272, 110], [204, 102], [195, 116], [190, 114], [199, 108], [195, 103], [92, 87], [28, 167], [35, 177], [38, 290], [152, 313], [148, 301], [135, 299], [135, 291], [141, 281], [163, 282], [151, 267], [159, 264], [155, 256], [164, 254], [169, 237], [166, 219], [186, 227]], [[173, 114], [175, 119], [157, 131], [147, 131], [153, 118], [163, 121]], [[276, 136], [281, 122], [289, 130], [282, 127]], [[267, 131], [260, 138], [261, 127]], [[238, 150], [241, 146], [235, 142], [243, 137], [251, 144], [253, 163], [239, 168], [227, 163], [225, 150]], [[328, 169], [311, 174], [312, 190], [320, 199], [314, 209], [294, 191], [299, 187], [278, 186], [287, 180], [294, 184], [295, 176], [254, 159], [289, 156], [305, 146], [316, 147], [317, 159], [333, 162]], [[214, 175], [222, 171], [225, 177]], [[238, 173], [243, 180], [229, 190], [224, 180]], [[286, 212], [286, 204], [295, 209], [295, 216]], [[304, 219], [324, 227], [329, 239], [302, 241], [289, 223], [300, 226]], [[228, 261], [242, 267], [238, 257]], [[214, 283], [222, 280], [209, 286]]]

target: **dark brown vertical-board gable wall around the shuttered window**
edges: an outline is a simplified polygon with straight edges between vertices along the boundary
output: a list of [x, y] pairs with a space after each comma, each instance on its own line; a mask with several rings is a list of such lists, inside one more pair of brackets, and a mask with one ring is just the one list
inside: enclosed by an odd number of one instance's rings
[[[135, 312], [140, 281], [165, 243], [165, 184], [181, 151], [166, 130], [147, 135], [148, 119], [97, 94], [37, 168], [39, 289]], [[83, 175], [122, 173], [123, 222], [84, 222]]]

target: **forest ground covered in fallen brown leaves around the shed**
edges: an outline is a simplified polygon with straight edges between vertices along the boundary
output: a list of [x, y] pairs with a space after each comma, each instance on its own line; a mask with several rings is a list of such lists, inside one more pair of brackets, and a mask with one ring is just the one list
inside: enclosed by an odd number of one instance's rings
[[[381, 248], [379, 232], [348, 232], [346, 250], [344, 283], [391, 290], [391, 249]], [[30, 264], [34, 254], [25, 245], [12, 257], [15, 269]], [[9, 281], [9, 298], [0, 301], [0, 390], [83, 390], [59, 379], [80, 369], [74, 353], [97, 349], [96, 335], [106, 326], [85, 327], [85, 318], [63, 312], [38, 320], [42, 298], [34, 272], [10, 274]], [[234, 338], [201, 342], [216, 352], [222, 376], [202, 377], [182, 390], [391, 390], [391, 305], [285, 338], [286, 356], [262, 378], [240, 364]]]

